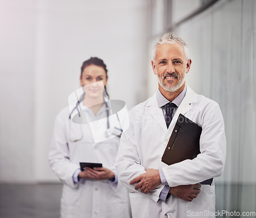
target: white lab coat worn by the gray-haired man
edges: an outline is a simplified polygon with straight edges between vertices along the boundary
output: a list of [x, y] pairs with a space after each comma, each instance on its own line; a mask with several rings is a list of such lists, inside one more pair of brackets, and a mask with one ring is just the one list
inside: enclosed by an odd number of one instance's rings
[[[202, 127], [200, 151], [194, 160], [173, 165], [161, 162], [167, 141], [179, 114], [183, 114]], [[202, 185], [201, 193], [192, 202], [170, 195], [159, 200], [163, 185], [148, 194], [134, 189], [129, 182], [145, 169], [162, 168], [170, 187], [196, 184], [221, 175], [226, 157], [226, 139], [223, 117], [219, 105], [187, 87], [186, 95], [167, 129], [163, 112], [158, 108], [156, 94], [130, 111], [130, 127], [121, 137], [116, 159], [120, 181], [130, 193], [133, 218], [157, 217], [215, 217], [215, 185]]]

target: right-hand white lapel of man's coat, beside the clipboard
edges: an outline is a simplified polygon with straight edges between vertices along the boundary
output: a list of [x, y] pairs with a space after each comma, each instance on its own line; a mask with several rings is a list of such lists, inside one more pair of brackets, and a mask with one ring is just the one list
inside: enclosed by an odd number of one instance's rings
[[170, 122], [170, 126], [166, 133], [167, 135], [170, 136], [170, 134], [172, 134], [173, 128], [175, 126], [175, 123], [178, 120], [179, 115], [182, 114], [185, 116], [185, 114], [192, 108], [190, 104], [196, 101], [197, 101], [196, 93], [187, 86], [186, 95], [182, 100], [180, 106], [178, 107], [178, 110], [176, 111], [172, 122]]

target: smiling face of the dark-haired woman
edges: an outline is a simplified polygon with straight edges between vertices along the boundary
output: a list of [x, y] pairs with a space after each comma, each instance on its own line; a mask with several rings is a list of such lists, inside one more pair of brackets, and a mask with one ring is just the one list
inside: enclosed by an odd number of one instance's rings
[[91, 98], [101, 97], [107, 82], [104, 69], [94, 64], [84, 68], [80, 76], [80, 85], [84, 86], [86, 96]]

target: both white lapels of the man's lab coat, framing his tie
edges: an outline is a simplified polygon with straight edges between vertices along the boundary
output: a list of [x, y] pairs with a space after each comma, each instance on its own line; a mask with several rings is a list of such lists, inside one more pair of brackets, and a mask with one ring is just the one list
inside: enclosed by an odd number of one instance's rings
[[158, 107], [156, 93], [151, 97], [150, 101], [148, 101], [146, 107], [151, 111], [151, 113], [149, 114], [153, 116], [153, 118], [162, 127], [162, 129], [166, 132], [166, 134], [170, 135], [170, 133], [172, 133], [172, 130], [175, 126], [175, 123], [179, 115], [180, 114], [185, 115], [192, 108], [190, 104], [194, 102], [197, 102], [197, 94], [187, 86], [186, 95], [182, 100], [180, 106], [178, 107], [178, 110], [175, 113], [172, 122], [170, 122], [168, 129], [166, 127], [162, 108]]

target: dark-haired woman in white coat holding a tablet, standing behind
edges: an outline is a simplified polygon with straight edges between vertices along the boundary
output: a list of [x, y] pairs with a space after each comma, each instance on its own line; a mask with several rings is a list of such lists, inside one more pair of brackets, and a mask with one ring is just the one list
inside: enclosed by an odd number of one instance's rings
[[[130, 217], [127, 190], [114, 167], [120, 138], [111, 134], [116, 123], [109, 119], [107, 73], [101, 59], [84, 61], [80, 75], [84, 93], [71, 113], [64, 108], [55, 120], [49, 162], [63, 182], [60, 217]], [[88, 122], [75, 123], [72, 113], [86, 116]], [[102, 163], [102, 167], [81, 171], [80, 162]]]

